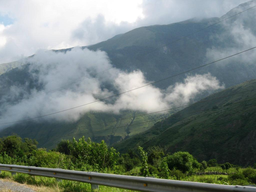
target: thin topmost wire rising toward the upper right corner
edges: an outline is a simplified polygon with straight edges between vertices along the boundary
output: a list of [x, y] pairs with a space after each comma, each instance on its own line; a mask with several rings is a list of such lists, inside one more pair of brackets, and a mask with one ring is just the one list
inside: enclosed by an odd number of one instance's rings
[[[253, 7], [256, 7], [256, 5], [253, 6]], [[250, 8], [248, 8], [248, 9], [246, 9], [246, 10], [240, 12], [240, 13], [243, 13], [243, 12], [245, 12], [245, 11], [247, 11], [247, 10], [253, 8], [253, 7], [250, 7]], [[240, 13], [237, 13], [237, 14], [232, 15], [232, 16], [226, 18], [226, 19], [223, 19], [223, 20], [221, 20], [221, 21], [219, 21], [219, 22], [217, 22], [217, 23], [214, 23], [214, 24], [209, 25], [209, 26], [207, 26], [207, 27], [205, 27], [205, 28], [202, 28], [202, 29], [200, 29], [200, 30], [198, 30], [198, 31], [195, 31], [194, 33], [191, 33], [191, 34], [189, 34], [189, 35], [186, 35], [186, 36], [184, 36], [184, 37], [181, 37], [181, 38], [179, 38], [179, 39], [176, 39], [175, 41], [172, 41], [172, 42], [170, 42], [170, 43], [168, 43], [168, 44], [165, 44], [165, 45], [163, 45], [163, 46], [161, 46], [161, 47], [157, 47], [157, 48], [155, 48], [155, 49], [153, 49], [153, 50], [147, 52], [146, 54], [144, 54], [144, 56], [147, 55], [147, 54], [150, 54], [151, 52], [153, 52], [153, 51], [155, 51], [155, 50], [157, 50], [157, 49], [160, 49], [160, 48], [165, 47], [165, 46], [167, 46], [167, 45], [173, 44], [173, 43], [175, 43], [175, 42], [177, 42], [177, 41], [179, 41], [179, 40], [181, 40], [181, 39], [184, 39], [184, 38], [186, 38], [186, 37], [189, 37], [189, 36], [191, 36], [191, 35], [194, 35], [195, 33], [198, 33], [198, 32], [200, 32], [200, 31], [202, 31], [202, 30], [204, 30], [204, 29], [207, 29], [207, 28], [209, 28], [209, 27], [211, 27], [211, 26], [214, 26], [214, 25], [216, 25], [216, 24], [218, 24], [218, 23], [220, 23], [220, 22], [223, 22], [223, 21], [225, 21], [225, 20], [227, 20], [227, 19], [229, 19], [229, 18], [231, 18], [231, 17], [234, 17], [234, 16], [236, 16], [236, 15], [239, 15]], [[104, 70], [104, 71], [107, 71], [107, 70], [110, 70], [110, 69], [113, 69], [113, 68], [114, 68], [114, 67], [111, 67], [111, 68], [106, 69], [106, 70]], [[104, 72], [104, 71], [101, 71], [101, 72], [99, 72], [99, 73], [102, 73], [102, 72]], [[95, 76], [95, 75], [97, 75], [97, 74], [99, 74], [99, 73], [96, 73], [96, 74], [94, 74], [94, 75], [92, 75], [92, 76], [89, 76], [89, 77], [93, 77], [93, 76]], [[53, 90], [50, 90], [50, 91], [48, 91], [48, 92], [44, 92], [44, 93], [41, 93], [41, 94], [39, 94], [39, 95], [35, 95], [35, 96], [33, 96], [33, 97], [30, 97], [29, 99], [38, 97], [38, 96], [43, 95], [43, 94], [50, 93], [50, 92], [52, 92], [52, 91], [56, 91], [56, 90], [61, 89], [61, 88], [64, 88], [64, 87], [67, 87], [67, 86], [69, 86], [69, 85], [71, 85], [71, 84], [80, 82], [80, 81], [85, 80], [85, 79], [87, 79], [87, 78], [89, 78], [89, 77], [86, 77], [86, 78], [77, 80], [77, 81], [75, 81], [75, 82], [72, 82], [72, 83], [70, 83], [70, 84], [67, 84], [67, 85], [65, 85], [65, 86], [62, 86], [62, 87], [59, 87], [59, 88], [56, 88], [56, 89], [53, 89]]]

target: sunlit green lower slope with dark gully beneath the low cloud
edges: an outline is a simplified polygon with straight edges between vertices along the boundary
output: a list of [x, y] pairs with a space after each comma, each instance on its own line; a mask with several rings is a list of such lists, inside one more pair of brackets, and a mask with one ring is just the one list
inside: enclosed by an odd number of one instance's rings
[[[105, 142], [110, 145], [147, 130], [157, 122], [152, 121], [154, 119], [169, 116], [168, 113], [132, 118], [133, 116], [141, 114], [143, 113], [135, 111], [123, 111], [116, 115], [112, 113], [89, 112], [84, 114], [77, 122], [24, 122], [2, 130], [0, 135], [2, 137], [14, 133], [22, 138], [35, 138], [39, 142], [39, 147], [45, 148], [56, 147], [56, 144], [61, 141], [61, 139], [72, 140], [73, 137], [80, 138], [83, 135], [86, 138], [90, 137], [95, 142], [105, 140]], [[146, 121], [151, 122], [137, 124], [136, 126], [131, 125]]]

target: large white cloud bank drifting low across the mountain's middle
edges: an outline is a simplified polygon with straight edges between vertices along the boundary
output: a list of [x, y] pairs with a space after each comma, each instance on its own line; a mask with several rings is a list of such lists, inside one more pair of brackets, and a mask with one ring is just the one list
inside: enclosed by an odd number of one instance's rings
[[[33, 118], [109, 97], [113, 94], [144, 86], [150, 82], [139, 70], [133, 72], [112, 68], [111, 61], [103, 51], [73, 48], [71, 51], [39, 51], [28, 58], [30, 63], [28, 77], [33, 77], [37, 88], [30, 90], [29, 82], [12, 86], [1, 100], [0, 122], [9, 122]], [[24, 66], [20, 67], [23, 69]], [[89, 77], [69, 87], [56, 89], [70, 82]], [[76, 121], [88, 111], [114, 112], [121, 110], [138, 110], [155, 112], [189, 103], [191, 99], [203, 92], [222, 89], [220, 82], [211, 74], [187, 76], [184, 82], [161, 90], [153, 84], [121, 94], [111, 100], [103, 100], [76, 109], [64, 111], [35, 121]], [[24, 90], [30, 90], [24, 92]], [[38, 97], [35, 97], [42, 94]], [[17, 97], [22, 97], [17, 100]], [[6, 102], [8, 101], [9, 102]], [[4, 102], [3, 102], [4, 101]]]

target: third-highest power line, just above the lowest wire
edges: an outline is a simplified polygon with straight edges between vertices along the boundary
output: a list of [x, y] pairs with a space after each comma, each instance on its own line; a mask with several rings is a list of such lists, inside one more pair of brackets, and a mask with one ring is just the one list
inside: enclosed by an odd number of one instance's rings
[[[200, 104], [200, 103], [204, 103], [204, 102], [208, 102], [208, 101], [213, 101], [213, 100], [216, 100], [216, 99], [221, 99], [221, 98], [225, 98], [225, 97], [230, 97], [230, 96], [233, 96], [233, 95], [237, 95], [237, 94], [241, 94], [241, 93], [246, 93], [246, 92], [254, 91], [254, 90], [256, 90], [256, 88], [255, 88], [255, 89], [250, 89], [250, 90], [247, 90], [247, 91], [242, 91], [242, 92], [234, 93], [234, 94], [225, 95], [225, 96], [218, 97], [218, 98], [214, 98], [214, 99], [209, 99], [209, 100], [205, 100], [205, 101], [199, 101], [199, 102], [192, 103], [192, 104], [187, 104], [187, 105], [178, 106], [178, 107], [175, 107], [175, 108], [165, 109], [165, 110], [162, 110], [162, 111], [156, 111], [156, 112], [152, 112], [152, 113], [147, 113], [147, 114], [132, 116], [132, 117], [128, 117], [128, 118], [124, 118], [124, 119], [119, 119], [119, 120], [114, 120], [114, 121], [107, 121], [107, 122], [104, 122], [104, 123], [97, 123], [97, 124], [91, 124], [91, 125], [78, 126], [78, 127], [76, 127], [76, 128], [88, 127], [88, 126], [93, 126], [93, 125], [100, 125], [100, 124], [105, 124], [105, 123], [111, 123], [111, 122], [116, 122], [116, 121], [122, 121], [122, 120], [126, 120], [126, 119], [141, 117], [141, 116], [145, 116], [145, 115], [150, 115], [150, 114], [154, 114], [154, 113], [169, 111], [169, 110], [178, 109], [178, 108], [182, 108], [182, 107], [187, 107], [187, 106], [191, 106], [191, 105], [195, 105], [195, 104]], [[223, 91], [224, 91], [224, 90], [223, 90]], [[223, 91], [221, 91], [221, 92], [223, 92]], [[221, 92], [219, 92], [219, 93], [221, 93]], [[52, 130], [51, 130], [51, 131], [52, 131]], [[39, 132], [40, 132], [40, 133], [45, 133], [45, 132], [51, 132], [51, 131], [30, 131], [30, 132], [15, 132], [15, 133], [39, 133]], [[0, 133], [6, 133], [6, 132], [0, 132]], [[9, 133], [9, 132], [8, 132], [8, 133]]]

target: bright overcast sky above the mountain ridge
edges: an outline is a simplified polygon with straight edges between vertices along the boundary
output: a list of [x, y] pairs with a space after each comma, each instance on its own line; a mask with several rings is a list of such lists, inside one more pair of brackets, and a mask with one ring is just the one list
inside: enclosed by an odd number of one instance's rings
[[131, 29], [220, 17], [247, 0], [0, 0], [0, 63], [95, 44]]

